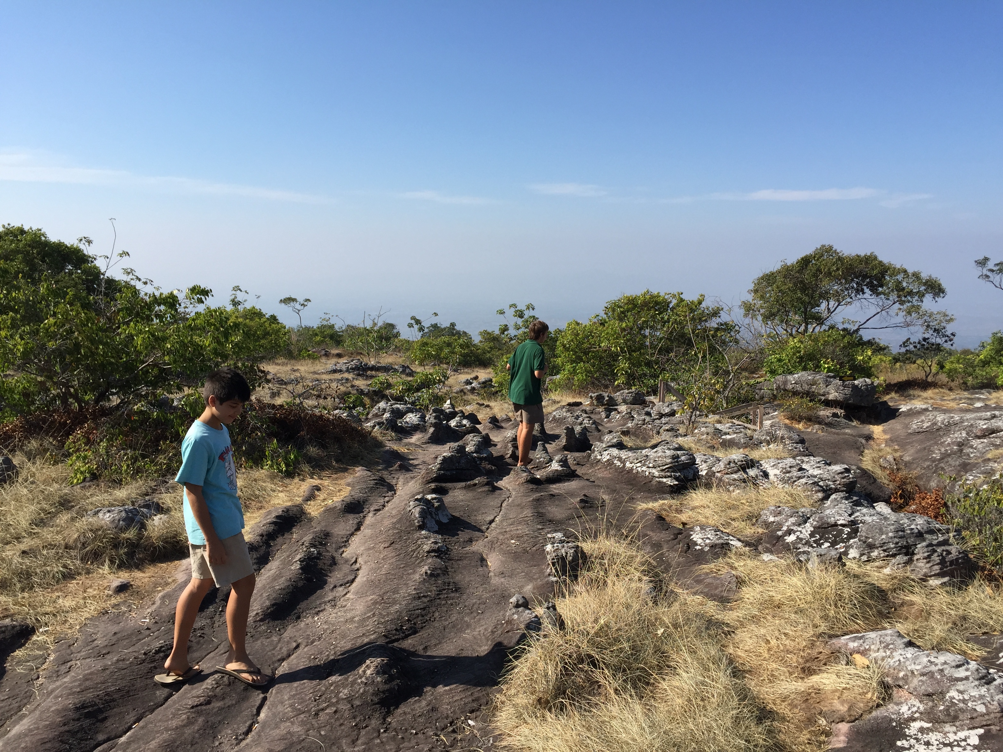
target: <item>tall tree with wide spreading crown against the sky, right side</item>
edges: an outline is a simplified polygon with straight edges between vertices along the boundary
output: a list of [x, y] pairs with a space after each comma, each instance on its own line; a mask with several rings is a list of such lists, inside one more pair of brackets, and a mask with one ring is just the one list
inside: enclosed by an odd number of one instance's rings
[[[882, 261], [876, 254], [844, 254], [819, 246], [792, 263], [757, 277], [742, 303], [746, 316], [785, 337], [833, 327], [912, 328], [928, 315], [923, 304], [946, 295], [936, 277]], [[859, 319], [850, 318], [850, 315]]]

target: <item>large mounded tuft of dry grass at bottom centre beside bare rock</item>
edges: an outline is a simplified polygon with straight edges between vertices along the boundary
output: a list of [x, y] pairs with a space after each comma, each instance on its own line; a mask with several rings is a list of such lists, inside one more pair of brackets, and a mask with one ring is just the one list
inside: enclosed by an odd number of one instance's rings
[[[536, 752], [753, 752], [772, 748], [759, 708], [693, 599], [653, 596], [654, 568], [600, 534], [545, 627], [503, 678], [493, 725]], [[657, 592], [657, 588], [654, 589]]]

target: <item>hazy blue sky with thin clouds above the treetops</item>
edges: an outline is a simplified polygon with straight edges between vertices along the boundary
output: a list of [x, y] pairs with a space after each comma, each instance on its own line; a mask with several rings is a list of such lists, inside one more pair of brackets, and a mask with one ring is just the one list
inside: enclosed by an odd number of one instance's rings
[[0, 5], [0, 222], [476, 331], [645, 288], [736, 303], [822, 243], [1003, 327], [1003, 5]]

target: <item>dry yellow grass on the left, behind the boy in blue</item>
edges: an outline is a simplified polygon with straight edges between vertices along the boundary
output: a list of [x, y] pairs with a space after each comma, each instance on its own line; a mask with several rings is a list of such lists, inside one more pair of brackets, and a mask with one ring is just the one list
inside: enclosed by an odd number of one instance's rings
[[[67, 485], [69, 470], [63, 463], [42, 455], [15, 460], [18, 479], [0, 486], [0, 618], [26, 621], [38, 630], [22, 653], [51, 645], [107, 609], [173, 585], [178, 561], [188, 551], [179, 487], [172, 484], [153, 494], [166, 512], [157, 525], [115, 532], [83, 514], [151, 495], [156, 484], [74, 487]], [[298, 503], [312, 483], [321, 491], [306, 509], [316, 514], [347, 493], [353, 472], [344, 468], [287, 478], [269, 470], [239, 470], [245, 522], [250, 526], [269, 508]], [[114, 577], [129, 580], [132, 587], [109, 595], [108, 580]]]

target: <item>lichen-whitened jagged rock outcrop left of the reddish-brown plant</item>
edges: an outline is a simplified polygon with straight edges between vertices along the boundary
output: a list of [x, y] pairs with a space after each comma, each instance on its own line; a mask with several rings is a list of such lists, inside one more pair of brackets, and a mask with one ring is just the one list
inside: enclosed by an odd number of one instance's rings
[[944, 525], [861, 494], [834, 493], [817, 509], [770, 506], [756, 524], [766, 530], [763, 548], [773, 553], [835, 549], [847, 558], [887, 559], [918, 578], [941, 582], [967, 580], [976, 570]]

